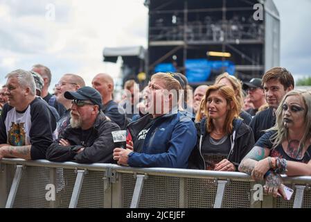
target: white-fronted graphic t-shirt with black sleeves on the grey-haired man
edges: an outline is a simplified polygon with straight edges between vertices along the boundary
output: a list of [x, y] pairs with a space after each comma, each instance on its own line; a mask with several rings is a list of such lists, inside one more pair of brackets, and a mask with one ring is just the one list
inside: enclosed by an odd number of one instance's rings
[[35, 98], [23, 112], [6, 103], [0, 117], [0, 144], [27, 146], [31, 144], [32, 160], [44, 159], [53, 142], [56, 119], [41, 98]]

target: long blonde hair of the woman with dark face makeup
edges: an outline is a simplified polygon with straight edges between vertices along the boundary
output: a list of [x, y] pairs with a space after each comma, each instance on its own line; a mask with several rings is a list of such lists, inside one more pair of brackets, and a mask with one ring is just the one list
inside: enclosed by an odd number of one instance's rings
[[[280, 105], [278, 105], [278, 109], [276, 110], [276, 125], [269, 130], [276, 130], [276, 133], [272, 135], [270, 138], [273, 143], [272, 148], [276, 148], [278, 144], [281, 144], [285, 139], [288, 138], [288, 130], [285, 128], [283, 123], [283, 104], [285, 103], [285, 99], [288, 96], [299, 96], [303, 103], [305, 104], [305, 133], [303, 134], [303, 138], [299, 143], [299, 151], [303, 146], [305, 146], [305, 142], [311, 138], [311, 92], [307, 90], [292, 90], [287, 92], [283, 97]], [[267, 130], [267, 131], [269, 131]]]

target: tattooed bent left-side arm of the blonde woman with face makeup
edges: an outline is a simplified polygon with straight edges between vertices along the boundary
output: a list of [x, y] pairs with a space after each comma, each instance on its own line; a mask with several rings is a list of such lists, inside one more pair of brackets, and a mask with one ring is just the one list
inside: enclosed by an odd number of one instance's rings
[[[269, 162], [267, 162], [266, 159], [269, 153], [270, 151], [268, 148], [254, 146], [241, 161], [239, 171], [251, 175], [255, 180], [263, 179], [263, 176], [269, 170], [269, 168], [266, 169], [269, 167]], [[256, 171], [254, 171], [255, 167]]]

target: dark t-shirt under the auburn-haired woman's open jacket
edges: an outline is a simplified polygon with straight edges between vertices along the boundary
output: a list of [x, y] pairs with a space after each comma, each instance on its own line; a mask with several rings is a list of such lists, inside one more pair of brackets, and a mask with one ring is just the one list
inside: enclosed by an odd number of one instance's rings
[[209, 134], [202, 141], [202, 155], [208, 170], [213, 170], [214, 165], [226, 159], [231, 148], [230, 135], [222, 139], [213, 139]]

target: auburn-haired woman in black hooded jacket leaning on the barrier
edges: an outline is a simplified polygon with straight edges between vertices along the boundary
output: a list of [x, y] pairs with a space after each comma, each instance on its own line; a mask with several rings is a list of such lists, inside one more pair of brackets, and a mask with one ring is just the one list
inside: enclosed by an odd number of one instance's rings
[[208, 87], [202, 107], [206, 117], [196, 123], [197, 146], [190, 155], [193, 169], [237, 171], [243, 157], [254, 145], [251, 128], [238, 117], [236, 94], [226, 85]]

